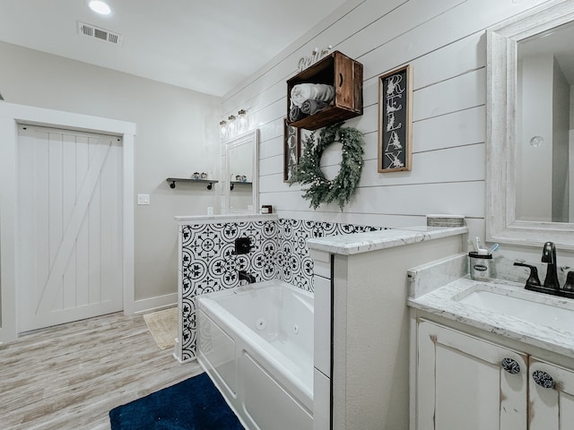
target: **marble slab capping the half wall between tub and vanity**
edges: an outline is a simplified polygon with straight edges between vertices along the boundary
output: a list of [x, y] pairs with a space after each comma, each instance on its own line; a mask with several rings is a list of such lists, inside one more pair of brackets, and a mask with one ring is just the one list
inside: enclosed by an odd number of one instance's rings
[[394, 246], [416, 244], [440, 237], [463, 235], [467, 227], [409, 227], [355, 233], [352, 235], [327, 236], [309, 239], [309, 249], [330, 254], [361, 254]]

